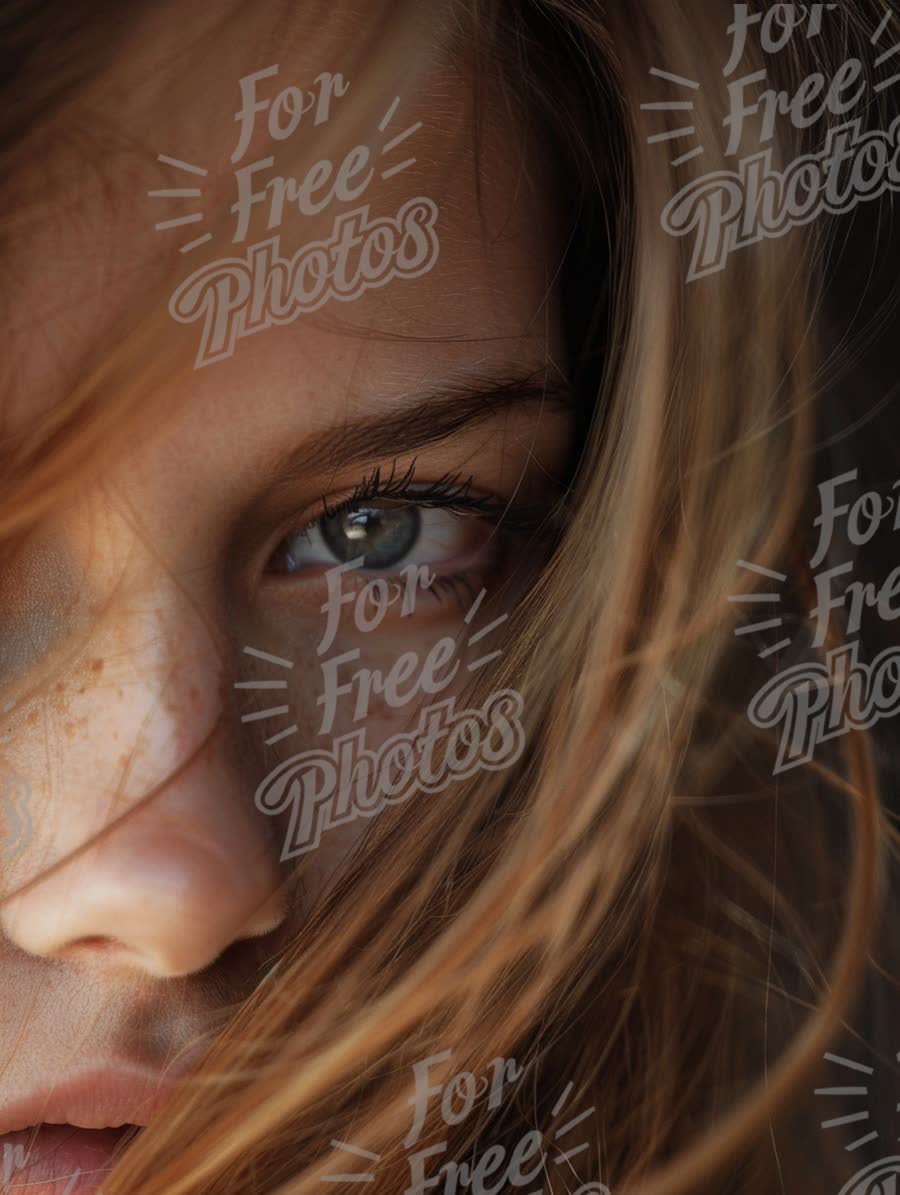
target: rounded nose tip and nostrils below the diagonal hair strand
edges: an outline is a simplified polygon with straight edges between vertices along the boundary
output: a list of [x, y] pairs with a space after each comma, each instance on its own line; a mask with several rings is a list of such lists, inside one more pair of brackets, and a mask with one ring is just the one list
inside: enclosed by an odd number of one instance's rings
[[[154, 976], [209, 967], [283, 920], [274, 852], [213, 761], [128, 813], [100, 840], [2, 907], [29, 954]], [[258, 815], [257, 815], [258, 816]]]

